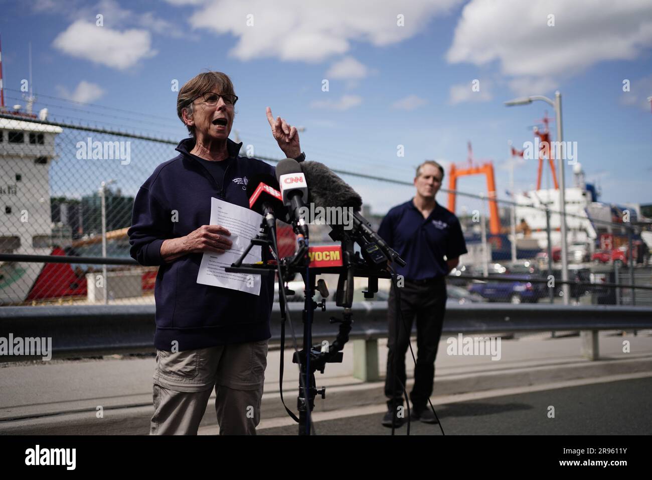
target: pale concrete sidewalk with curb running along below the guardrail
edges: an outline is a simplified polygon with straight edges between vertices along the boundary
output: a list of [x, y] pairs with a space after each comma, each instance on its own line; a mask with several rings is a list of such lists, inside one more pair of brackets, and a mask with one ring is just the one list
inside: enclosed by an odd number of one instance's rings
[[[501, 340], [501, 359], [490, 355], [447, 354], [446, 340], [439, 344], [434, 396], [479, 392], [489, 389], [537, 385], [568, 379], [652, 371], [652, 335], [600, 333], [600, 360], [580, 357], [580, 338], [550, 338], [549, 333]], [[623, 353], [623, 341], [630, 353]], [[318, 338], [314, 339], [317, 344]], [[286, 342], [291, 345], [291, 342]], [[416, 351], [416, 345], [413, 344]], [[284, 398], [296, 411], [299, 372], [291, 363], [293, 350], [285, 352]], [[267, 357], [263, 419], [287, 415], [280, 402], [278, 365], [280, 351]], [[387, 362], [386, 340], [379, 340], [381, 377]], [[413, 362], [408, 351], [408, 377]], [[153, 413], [152, 374], [154, 357], [101, 360], [51, 360], [43, 364], [3, 364], [0, 368], [0, 434], [147, 434]], [[364, 383], [353, 375], [353, 345], [344, 349], [344, 362], [327, 364], [325, 374], [316, 373], [318, 396], [315, 411], [334, 411], [353, 406], [378, 405], [385, 400], [383, 381]], [[408, 386], [411, 381], [408, 381]], [[215, 425], [215, 392], [202, 426]], [[98, 406], [103, 418], [97, 418]]]

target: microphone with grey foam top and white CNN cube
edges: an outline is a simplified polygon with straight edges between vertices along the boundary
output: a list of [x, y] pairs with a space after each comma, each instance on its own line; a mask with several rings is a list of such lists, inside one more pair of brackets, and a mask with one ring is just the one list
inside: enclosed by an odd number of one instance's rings
[[276, 180], [280, 185], [283, 203], [288, 207], [288, 217], [299, 234], [299, 242], [302, 237], [308, 240], [308, 225], [301, 216], [308, 201], [308, 184], [306, 176], [301, 171], [299, 163], [295, 159], [286, 158], [276, 165]]

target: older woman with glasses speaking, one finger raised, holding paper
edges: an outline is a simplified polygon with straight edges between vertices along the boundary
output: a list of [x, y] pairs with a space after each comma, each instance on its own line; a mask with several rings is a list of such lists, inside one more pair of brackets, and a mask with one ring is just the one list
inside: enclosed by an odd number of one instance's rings
[[[150, 434], [197, 434], [215, 387], [220, 434], [256, 434], [267, 366], [273, 280], [261, 276], [259, 295], [197, 283], [203, 253], [224, 253], [230, 234], [210, 225], [211, 197], [248, 208], [246, 184], [274, 167], [239, 156], [230, 138], [238, 97], [230, 78], [205, 72], [177, 97], [177, 115], [190, 138], [179, 155], [161, 163], [140, 187], [131, 256], [158, 265], [156, 370]], [[280, 117], [267, 120], [283, 153], [304, 159], [297, 129]]]

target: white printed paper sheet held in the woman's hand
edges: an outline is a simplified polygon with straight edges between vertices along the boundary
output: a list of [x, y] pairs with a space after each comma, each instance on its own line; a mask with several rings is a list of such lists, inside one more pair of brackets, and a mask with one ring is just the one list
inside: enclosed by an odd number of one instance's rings
[[[260, 295], [260, 276], [254, 274], [234, 274], [224, 271], [231, 266], [249, 246], [249, 241], [258, 234], [263, 217], [253, 210], [211, 197], [211, 225], [222, 225], [231, 232], [227, 238], [233, 246], [224, 253], [204, 253], [201, 257], [197, 283], [213, 285], [226, 289], [240, 290]], [[250, 249], [243, 263], [260, 261], [260, 246]]]

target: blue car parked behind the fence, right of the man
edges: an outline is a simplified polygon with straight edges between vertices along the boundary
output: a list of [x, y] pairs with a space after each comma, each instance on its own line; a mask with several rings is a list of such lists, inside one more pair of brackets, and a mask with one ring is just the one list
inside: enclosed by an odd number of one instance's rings
[[531, 280], [541, 280], [541, 277], [535, 275], [503, 275], [504, 281], [482, 281], [471, 283], [469, 292], [477, 293], [489, 302], [511, 302], [518, 304], [521, 302], [538, 302], [539, 298], [546, 296], [547, 285], [543, 282], [533, 282]]

